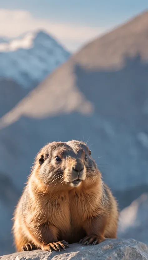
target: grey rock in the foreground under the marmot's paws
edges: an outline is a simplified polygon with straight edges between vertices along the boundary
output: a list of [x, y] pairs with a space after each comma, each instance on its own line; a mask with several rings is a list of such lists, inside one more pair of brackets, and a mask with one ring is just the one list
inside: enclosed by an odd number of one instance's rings
[[106, 239], [96, 246], [81, 246], [71, 244], [65, 251], [47, 252], [35, 250], [30, 252], [18, 252], [0, 257], [0, 260], [147, 260], [148, 247], [134, 239]]

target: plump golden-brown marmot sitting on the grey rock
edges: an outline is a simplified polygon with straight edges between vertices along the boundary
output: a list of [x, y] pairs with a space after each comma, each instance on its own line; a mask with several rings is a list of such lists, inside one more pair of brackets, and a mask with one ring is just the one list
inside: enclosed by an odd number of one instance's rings
[[84, 142], [52, 142], [32, 167], [14, 212], [17, 251], [59, 250], [116, 238], [118, 208]]

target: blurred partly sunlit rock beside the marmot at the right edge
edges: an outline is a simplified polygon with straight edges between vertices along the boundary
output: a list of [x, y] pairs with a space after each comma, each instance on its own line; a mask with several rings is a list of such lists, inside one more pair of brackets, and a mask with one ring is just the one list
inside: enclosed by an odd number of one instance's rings
[[118, 236], [133, 237], [148, 245], [148, 193], [144, 193], [123, 209], [119, 218]]

